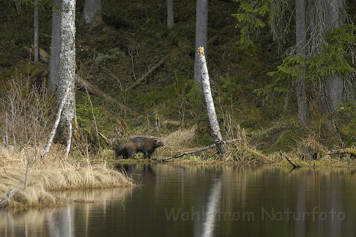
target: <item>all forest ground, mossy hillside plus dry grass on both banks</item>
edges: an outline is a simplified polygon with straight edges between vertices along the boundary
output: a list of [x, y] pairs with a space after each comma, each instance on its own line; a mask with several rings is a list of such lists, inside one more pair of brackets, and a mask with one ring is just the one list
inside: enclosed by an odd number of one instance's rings
[[[25, 49], [33, 44], [33, 9], [15, 2], [0, 2], [0, 197], [4, 197], [0, 201], [6, 201], [7, 206], [65, 202], [52, 196], [50, 190], [135, 186], [133, 180], [107, 164], [153, 163], [213, 143], [201, 88], [194, 82], [195, 1], [174, 1], [175, 26], [167, 30], [166, 5], [161, 0], [103, 0], [105, 24], [92, 30], [77, 27], [77, 74], [113, 100], [88, 96], [78, 86], [80, 130], [73, 139], [69, 160], [63, 160], [65, 148], [55, 144], [49, 158], [41, 161], [40, 151], [47, 144], [56, 114], [55, 95], [46, 93], [48, 64], [34, 64], [33, 56], [29, 63]], [[76, 5], [79, 24], [84, 0], [77, 0]], [[238, 2], [209, 0], [206, 50], [223, 139], [236, 140], [228, 144], [223, 157], [210, 149], [165, 162], [290, 165], [288, 157], [301, 166], [356, 166], [350, 154], [327, 154], [329, 150], [355, 148], [355, 110], [334, 115], [339, 129], [330, 129], [329, 119], [320, 115], [314, 85], [307, 82], [307, 94], [313, 95], [308, 97], [311, 126], [300, 129], [293, 89], [272, 92], [268, 100], [254, 92], [272, 82], [267, 73], [276, 70], [282, 57], [270, 38], [269, 27], [254, 36], [251, 48], [238, 48], [237, 20], [231, 16], [238, 8]], [[50, 35], [51, 7], [44, 5], [39, 45], [47, 53]], [[293, 32], [288, 41], [290, 45], [294, 41]], [[132, 87], [161, 60], [163, 63]], [[288, 83], [286, 86], [293, 88], [293, 82]], [[16, 106], [8, 106], [9, 102], [16, 102]], [[26, 118], [20, 110], [23, 106], [27, 108]], [[153, 160], [115, 158], [114, 147], [135, 136], [159, 137], [164, 146], [156, 149]], [[26, 155], [27, 149], [30, 152]], [[27, 191], [15, 190], [23, 187], [28, 158]], [[12, 194], [16, 195], [11, 199]]]

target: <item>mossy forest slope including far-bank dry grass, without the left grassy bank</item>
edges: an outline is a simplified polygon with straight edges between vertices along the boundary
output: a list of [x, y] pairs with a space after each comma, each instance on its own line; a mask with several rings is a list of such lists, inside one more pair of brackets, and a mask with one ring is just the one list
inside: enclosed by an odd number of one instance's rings
[[[162, 1], [104, 0], [102, 3], [105, 25], [92, 30], [77, 28], [77, 73], [136, 113], [132, 115], [102, 96], [90, 94], [88, 97], [83, 88], [78, 88], [76, 107], [81, 131], [73, 144], [71, 157], [80, 160], [81, 154], [89, 153], [95, 157], [93, 161], [112, 161], [115, 160], [113, 148], [134, 136], [162, 138], [165, 146], [156, 150], [154, 158], [157, 159], [211, 145], [204, 98], [193, 79], [195, 2], [174, 1], [172, 30], [167, 29], [166, 5]], [[76, 4], [79, 23], [84, 0]], [[33, 41], [32, 8], [22, 5], [19, 9], [12, 1], [2, 1], [0, 5], [4, 13], [0, 16], [3, 26], [1, 85], [8, 88], [7, 81], [27, 83], [28, 78], [31, 85], [44, 89], [48, 65], [40, 62], [29, 66], [28, 51], [24, 49]], [[268, 100], [254, 92], [272, 82], [267, 73], [276, 70], [282, 57], [270, 38], [268, 27], [254, 37], [256, 43], [251, 48], [238, 48], [235, 44], [239, 39], [239, 30], [235, 28], [237, 20], [231, 16], [238, 8], [238, 2], [209, 1], [207, 47], [212, 93], [223, 138], [237, 140], [229, 144], [228, 154], [223, 158], [214, 155], [211, 149], [169, 162], [289, 165], [284, 156], [280, 156], [281, 150], [301, 165], [356, 166], [349, 154], [327, 154], [333, 149], [355, 148], [350, 125], [354, 112], [338, 112], [335, 118], [339, 129], [330, 129], [329, 119], [320, 115], [317, 97], [309, 96], [311, 126], [300, 129], [293, 89], [283, 94], [273, 92]], [[51, 7], [45, 6], [40, 11], [39, 44], [48, 53], [50, 19]], [[293, 32], [288, 41], [290, 44], [294, 41]], [[162, 59], [162, 64], [130, 88]], [[289, 83], [286, 86], [293, 88], [293, 82]], [[307, 82], [307, 86], [307, 94], [313, 95], [314, 85]], [[49, 96], [48, 100], [54, 111], [55, 98]], [[2, 118], [4, 121], [4, 116]], [[49, 118], [48, 126], [51, 119], [54, 118]], [[106, 140], [97, 136], [95, 126]], [[21, 129], [20, 126], [16, 131], [21, 133]], [[22, 134], [14, 136], [16, 142], [25, 144]], [[38, 141], [46, 143], [46, 139], [43, 136]], [[99, 158], [97, 155], [103, 151], [105, 156]]]

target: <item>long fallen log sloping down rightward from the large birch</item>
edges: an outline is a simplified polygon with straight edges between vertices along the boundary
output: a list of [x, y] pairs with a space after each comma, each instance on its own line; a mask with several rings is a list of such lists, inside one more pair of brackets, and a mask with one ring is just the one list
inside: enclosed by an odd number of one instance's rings
[[[84, 83], [85, 83], [86, 86], [84, 86]], [[93, 95], [100, 96], [100, 97], [104, 98], [106, 101], [111, 102], [111, 103], [119, 106], [121, 109], [127, 111], [129, 114], [131, 114], [133, 116], [139, 116], [140, 115], [138, 112], [130, 109], [126, 105], [124, 105], [121, 102], [117, 101], [115, 98], [113, 98], [113, 97], [109, 96], [108, 94], [104, 93], [101, 89], [99, 89], [98, 87], [96, 87], [92, 83], [90, 83], [88, 81], [84, 81], [84, 79], [82, 79], [79, 76], [77, 76], [77, 85], [79, 87], [84, 88], [84, 89], [86, 88], [88, 90], [88, 92], [92, 93]]]

